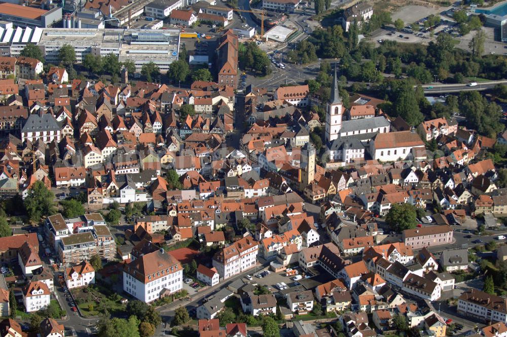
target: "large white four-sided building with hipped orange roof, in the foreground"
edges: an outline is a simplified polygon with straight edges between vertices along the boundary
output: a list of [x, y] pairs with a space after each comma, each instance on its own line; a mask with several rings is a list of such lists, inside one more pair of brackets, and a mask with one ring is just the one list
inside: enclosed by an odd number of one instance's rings
[[182, 288], [182, 264], [163, 249], [139, 256], [123, 269], [123, 290], [143, 302]]

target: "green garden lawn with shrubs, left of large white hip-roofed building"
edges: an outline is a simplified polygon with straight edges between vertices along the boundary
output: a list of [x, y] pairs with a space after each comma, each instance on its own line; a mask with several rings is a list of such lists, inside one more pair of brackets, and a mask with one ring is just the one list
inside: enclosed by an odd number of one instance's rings
[[121, 304], [122, 297], [118, 294], [106, 296], [96, 287], [84, 287], [73, 290], [76, 303], [85, 317], [105, 314], [122, 313], [125, 305]]

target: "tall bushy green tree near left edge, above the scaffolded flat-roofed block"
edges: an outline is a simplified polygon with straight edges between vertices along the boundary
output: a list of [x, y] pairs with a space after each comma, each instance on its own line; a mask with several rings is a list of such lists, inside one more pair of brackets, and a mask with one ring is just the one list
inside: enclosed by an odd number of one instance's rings
[[36, 181], [30, 187], [28, 195], [25, 198], [24, 205], [28, 217], [32, 221], [39, 221], [43, 216], [55, 213], [53, 199], [55, 195], [42, 181]]

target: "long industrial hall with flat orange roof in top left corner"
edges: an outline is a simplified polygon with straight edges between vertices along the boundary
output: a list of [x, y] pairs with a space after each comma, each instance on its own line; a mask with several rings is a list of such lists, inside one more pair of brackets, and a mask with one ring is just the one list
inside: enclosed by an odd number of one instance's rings
[[61, 7], [46, 11], [40, 8], [0, 3], [0, 20], [14, 22], [19, 27], [47, 28], [61, 19]]

